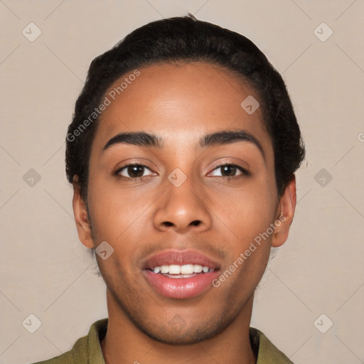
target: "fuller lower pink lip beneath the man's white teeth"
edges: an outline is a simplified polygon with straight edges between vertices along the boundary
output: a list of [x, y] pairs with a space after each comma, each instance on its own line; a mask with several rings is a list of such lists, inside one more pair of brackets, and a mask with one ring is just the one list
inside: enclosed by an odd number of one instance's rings
[[170, 278], [163, 274], [144, 271], [146, 280], [162, 296], [173, 299], [189, 299], [198, 296], [211, 286], [213, 279], [218, 277], [218, 270], [208, 273], [199, 273], [194, 277]]

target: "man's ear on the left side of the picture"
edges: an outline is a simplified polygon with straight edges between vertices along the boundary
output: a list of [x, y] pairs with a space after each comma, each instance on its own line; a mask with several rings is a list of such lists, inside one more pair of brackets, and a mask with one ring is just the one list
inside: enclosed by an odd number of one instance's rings
[[73, 213], [75, 215], [80, 242], [82, 242], [85, 247], [93, 248], [91, 224], [88, 218], [86, 203], [80, 195], [78, 176], [73, 177]]

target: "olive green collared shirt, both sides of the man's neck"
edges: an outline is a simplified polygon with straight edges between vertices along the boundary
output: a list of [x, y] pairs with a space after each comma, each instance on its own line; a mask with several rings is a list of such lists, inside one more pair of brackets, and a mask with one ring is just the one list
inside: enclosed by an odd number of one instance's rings
[[[102, 319], [92, 323], [88, 335], [79, 338], [67, 353], [34, 364], [105, 364], [100, 340], [105, 337], [107, 322], [108, 319]], [[257, 328], [250, 328], [249, 333], [257, 364], [293, 364]]]

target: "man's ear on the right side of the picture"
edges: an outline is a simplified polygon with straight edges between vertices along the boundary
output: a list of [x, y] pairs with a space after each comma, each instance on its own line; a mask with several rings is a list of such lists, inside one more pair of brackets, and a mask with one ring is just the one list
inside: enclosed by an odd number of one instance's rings
[[274, 225], [276, 229], [272, 237], [272, 247], [280, 247], [286, 242], [289, 234], [289, 228], [294, 217], [294, 210], [296, 208], [296, 176], [293, 176], [291, 181], [284, 189], [284, 193], [279, 199], [279, 218], [277, 218]]

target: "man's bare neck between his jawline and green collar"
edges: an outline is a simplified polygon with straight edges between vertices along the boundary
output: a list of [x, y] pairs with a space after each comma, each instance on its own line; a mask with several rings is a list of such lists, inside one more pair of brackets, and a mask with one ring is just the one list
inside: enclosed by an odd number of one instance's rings
[[109, 323], [106, 336], [101, 341], [105, 363], [255, 364], [249, 338], [252, 301], [253, 296], [235, 320], [213, 338], [192, 345], [173, 346], [155, 341], [140, 331], [107, 289]]

